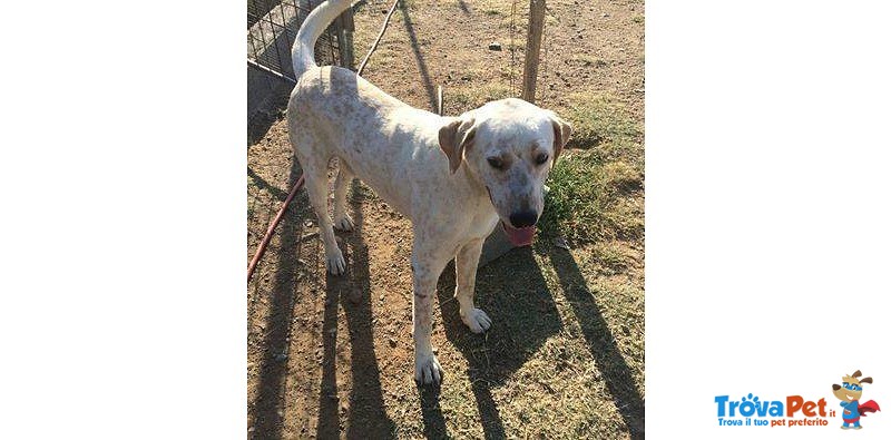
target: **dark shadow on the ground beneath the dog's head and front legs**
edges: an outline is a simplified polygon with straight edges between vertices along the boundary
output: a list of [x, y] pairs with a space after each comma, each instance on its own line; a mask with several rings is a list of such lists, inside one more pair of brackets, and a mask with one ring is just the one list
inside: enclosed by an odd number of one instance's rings
[[[495, 275], [505, 273], [516, 276]], [[471, 333], [461, 322], [458, 302], [452, 300], [453, 262], [440, 276], [437, 294], [446, 338], [468, 360], [468, 380], [486, 438], [506, 438], [492, 388], [522, 366], [548, 338], [562, 327], [541, 270], [532, 257], [532, 250], [512, 250], [478, 271], [476, 306], [486, 311], [493, 321], [492, 327], [483, 334]], [[448, 383], [448, 372], [443, 382]], [[421, 387], [420, 393], [425, 434], [428, 438], [447, 436], [438, 390]]]

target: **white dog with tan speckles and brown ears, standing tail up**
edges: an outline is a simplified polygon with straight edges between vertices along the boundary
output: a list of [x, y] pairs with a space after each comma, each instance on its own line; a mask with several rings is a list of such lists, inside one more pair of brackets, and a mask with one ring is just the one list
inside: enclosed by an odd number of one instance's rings
[[[297, 33], [288, 135], [332, 274], [346, 266], [333, 227], [353, 227], [346, 187], [354, 177], [411, 218], [414, 379], [439, 383], [442, 368], [430, 342], [439, 275], [454, 257], [461, 320], [474, 333], [489, 329], [492, 321], [473, 306], [482, 243], [499, 222], [513, 244], [531, 243], [544, 207], [542, 184], [571, 128], [552, 111], [520, 99], [442, 117], [391, 97], [351, 70], [316, 66], [316, 40], [349, 7], [350, 0], [322, 3]], [[340, 170], [332, 223], [326, 172], [333, 157]]]

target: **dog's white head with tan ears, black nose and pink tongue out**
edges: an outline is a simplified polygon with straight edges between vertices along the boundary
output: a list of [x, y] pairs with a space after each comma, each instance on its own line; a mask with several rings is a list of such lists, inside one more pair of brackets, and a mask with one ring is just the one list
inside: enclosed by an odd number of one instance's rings
[[525, 245], [545, 207], [545, 179], [571, 133], [552, 111], [510, 98], [453, 119], [439, 130], [439, 144], [451, 173], [463, 164], [486, 186], [511, 242]]

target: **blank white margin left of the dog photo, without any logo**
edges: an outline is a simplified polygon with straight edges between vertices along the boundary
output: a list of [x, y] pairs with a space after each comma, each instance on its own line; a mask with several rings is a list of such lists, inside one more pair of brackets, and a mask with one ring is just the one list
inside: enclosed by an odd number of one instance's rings
[[244, 438], [244, 4], [4, 7], [2, 437]]

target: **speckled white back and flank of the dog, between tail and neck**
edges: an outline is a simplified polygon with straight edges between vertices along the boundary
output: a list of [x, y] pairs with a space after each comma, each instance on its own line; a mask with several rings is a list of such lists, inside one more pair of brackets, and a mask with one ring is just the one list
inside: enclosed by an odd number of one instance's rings
[[347, 69], [310, 68], [294, 88], [287, 113], [301, 165], [337, 157], [408, 217], [413, 214], [408, 187], [412, 167], [424, 167], [427, 176], [448, 174], [435, 137], [442, 118], [408, 106]]

